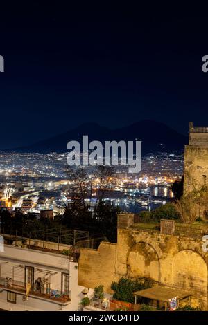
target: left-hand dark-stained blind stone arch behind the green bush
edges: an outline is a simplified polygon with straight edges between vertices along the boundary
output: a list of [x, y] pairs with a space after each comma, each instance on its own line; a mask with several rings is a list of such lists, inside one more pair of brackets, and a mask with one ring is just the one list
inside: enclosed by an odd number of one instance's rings
[[150, 243], [139, 241], [132, 245], [127, 263], [128, 275], [148, 277], [159, 282], [159, 256]]

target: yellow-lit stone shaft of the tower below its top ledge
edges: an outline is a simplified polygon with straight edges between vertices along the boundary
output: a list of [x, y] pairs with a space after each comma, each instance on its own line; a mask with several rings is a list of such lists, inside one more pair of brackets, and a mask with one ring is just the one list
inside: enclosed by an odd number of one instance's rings
[[[208, 143], [207, 143], [208, 145]], [[184, 194], [208, 185], [208, 147], [185, 146]]]

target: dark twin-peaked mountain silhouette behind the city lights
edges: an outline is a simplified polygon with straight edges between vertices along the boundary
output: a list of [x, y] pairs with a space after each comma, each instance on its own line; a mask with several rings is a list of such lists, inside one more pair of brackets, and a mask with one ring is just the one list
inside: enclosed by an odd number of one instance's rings
[[[105, 140], [142, 140], [142, 152], [149, 151], [180, 151], [188, 142], [188, 137], [178, 133], [162, 122], [153, 120], [141, 120], [117, 129], [101, 127], [97, 123], [85, 123], [58, 136], [36, 142], [33, 145], [10, 149], [16, 152], [64, 152], [67, 151], [67, 143], [76, 140], [82, 143], [83, 135], [89, 137], [89, 142], [99, 140], [103, 144]], [[5, 150], [2, 150], [5, 151]]]

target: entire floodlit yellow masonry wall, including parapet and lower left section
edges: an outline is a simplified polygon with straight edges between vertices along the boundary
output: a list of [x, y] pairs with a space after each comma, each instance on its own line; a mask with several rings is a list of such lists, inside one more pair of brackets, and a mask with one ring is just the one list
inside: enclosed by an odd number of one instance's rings
[[99, 284], [111, 293], [112, 281], [120, 277], [148, 277], [157, 284], [191, 293], [191, 304], [207, 310], [208, 253], [202, 236], [208, 226], [191, 228], [175, 221], [161, 221], [160, 230], [134, 223], [133, 214], [118, 217], [118, 242], [101, 243], [98, 250], [82, 248], [78, 284]]

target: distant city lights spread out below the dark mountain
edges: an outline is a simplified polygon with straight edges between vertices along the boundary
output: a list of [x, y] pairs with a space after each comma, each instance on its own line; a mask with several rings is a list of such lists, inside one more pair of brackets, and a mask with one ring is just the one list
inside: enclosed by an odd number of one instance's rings
[[[121, 210], [137, 212], [150, 210], [173, 199], [171, 185], [182, 178], [182, 153], [148, 154], [142, 160], [142, 172], [129, 174], [127, 168], [116, 168], [105, 192], [104, 201]], [[94, 168], [89, 178], [98, 189]], [[0, 155], [1, 208], [24, 213], [53, 211], [64, 213], [71, 201], [71, 187], [67, 177], [66, 154]]]

